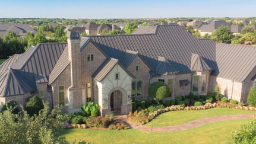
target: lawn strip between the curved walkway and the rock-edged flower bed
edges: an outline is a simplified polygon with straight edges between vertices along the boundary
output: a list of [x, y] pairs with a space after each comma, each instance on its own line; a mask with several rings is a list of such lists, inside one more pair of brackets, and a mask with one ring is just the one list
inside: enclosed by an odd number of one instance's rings
[[207, 110], [197, 111], [169, 111], [167, 113], [160, 114], [152, 121], [146, 124], [146, 126], [174, 126], [176, 124], [187, 123], [198, 119], [214, 116], [224, 116], [232, 114], [249, 114], [256, 113], [255, 111], [236, 110], [233, 108], [210, 108]]

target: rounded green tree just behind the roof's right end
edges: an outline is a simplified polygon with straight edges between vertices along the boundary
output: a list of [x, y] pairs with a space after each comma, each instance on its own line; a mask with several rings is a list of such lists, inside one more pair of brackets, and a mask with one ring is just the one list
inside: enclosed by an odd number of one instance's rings
[[232, 38], [233, 36], [230, 33], [228, 26], [220, 26], [217, 30], [213, 31], [213, 34], [211, 34], [211, 40], [217, 43], [231, 43]]

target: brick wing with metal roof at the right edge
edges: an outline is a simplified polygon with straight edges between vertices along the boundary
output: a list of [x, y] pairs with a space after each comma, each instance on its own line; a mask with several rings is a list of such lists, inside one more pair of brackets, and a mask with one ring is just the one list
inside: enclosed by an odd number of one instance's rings
[[217, 84], [229, 99], [246, 103], [252, 87], [256, 86], [256, 47], [216, 43]]

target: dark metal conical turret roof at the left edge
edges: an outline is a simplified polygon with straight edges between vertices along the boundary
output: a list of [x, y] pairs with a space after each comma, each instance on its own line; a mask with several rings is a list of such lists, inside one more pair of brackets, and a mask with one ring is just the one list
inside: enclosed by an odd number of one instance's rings
[[0, 95], [1, 97], [26, 94], [34, 91], [36, 88], [26, 81], [23, 76], [19, 75], [13, 69], [8, 69], [5, 75], [0, 78]]

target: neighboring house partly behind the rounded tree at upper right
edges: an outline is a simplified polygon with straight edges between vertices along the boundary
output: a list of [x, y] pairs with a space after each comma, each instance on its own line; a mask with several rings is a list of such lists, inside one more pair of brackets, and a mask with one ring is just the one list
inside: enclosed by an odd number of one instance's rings
[[204, 24], [199, 28], [199, 32], [201, 36], [204, 34], [212, 34], [214, 30], [217, 30], [220, 26], [228, 26], [229, 30], [231, 29], [231, 25], [226, 21], [212, 21], [210, 24]]

